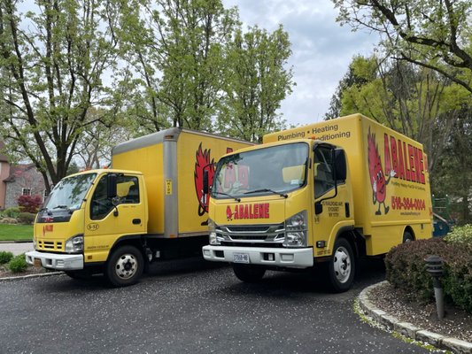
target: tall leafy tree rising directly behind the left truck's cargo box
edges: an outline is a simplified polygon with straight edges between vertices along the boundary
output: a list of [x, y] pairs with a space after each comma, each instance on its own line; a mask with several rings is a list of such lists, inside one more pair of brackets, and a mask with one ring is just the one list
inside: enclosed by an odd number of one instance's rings
[[145, 126], [212, 130], [224, 82], [223, 50], [239, 23], [236, 9], [225, 9], [221, 0], [144, 0], [128, 3], [122, 13], [122, 35], [147, 109], [134, 107], [151, 112], [140, 115]]

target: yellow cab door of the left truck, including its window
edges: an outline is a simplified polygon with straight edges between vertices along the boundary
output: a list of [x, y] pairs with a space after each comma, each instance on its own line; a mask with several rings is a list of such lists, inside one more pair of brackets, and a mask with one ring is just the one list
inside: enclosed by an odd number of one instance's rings
[[119, 174], [114, 200], [107, 198], [106, 174], [96, 183], [85, 215], [86, 261], [104, 261], [121, 235], [145, 232], [145, 205], [139, 181], [142, 180], [135, 175]]

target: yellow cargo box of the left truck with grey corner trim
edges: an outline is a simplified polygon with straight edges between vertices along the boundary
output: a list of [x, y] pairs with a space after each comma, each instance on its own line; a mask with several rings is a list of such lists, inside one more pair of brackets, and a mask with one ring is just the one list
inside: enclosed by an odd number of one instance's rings
[[112, 166], [137, 167], [148, 190], [148, 233], [164, 238], [207, 235], [208, 203], [203, 170], [249, 142], [181, 128], [124, 142], [112, 150]]

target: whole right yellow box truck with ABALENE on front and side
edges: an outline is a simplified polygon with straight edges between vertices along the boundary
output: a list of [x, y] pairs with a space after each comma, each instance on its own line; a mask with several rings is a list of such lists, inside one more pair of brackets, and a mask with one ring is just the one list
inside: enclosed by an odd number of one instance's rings
[[325, 266], [350, 289], [360, 257], [431, 237], [427, 166], [422, 144], [360, 114], [266, 135], [218, 162], [204, 257], [242, 281]]

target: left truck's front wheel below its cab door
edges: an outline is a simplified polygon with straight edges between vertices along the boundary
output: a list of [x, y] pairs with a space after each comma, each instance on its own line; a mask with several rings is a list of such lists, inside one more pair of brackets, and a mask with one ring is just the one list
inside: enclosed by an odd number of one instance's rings
[[139, 281], [143, 269], [143, 254], [133, 246], [123, 246], [108, 258], [104, 275], [112, 287], [127, 287]]

